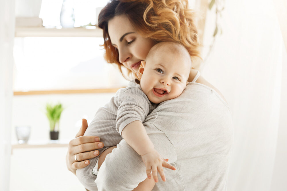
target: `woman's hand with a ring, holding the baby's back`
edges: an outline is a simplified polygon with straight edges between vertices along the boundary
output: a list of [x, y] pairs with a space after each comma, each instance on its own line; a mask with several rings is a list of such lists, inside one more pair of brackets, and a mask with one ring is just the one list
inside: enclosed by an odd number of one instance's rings
[[[97, 149], [104, 147], [104, 143], [99, 142], [97, 136], [83, 136], [88, 127], [86, 119], [82, 119], [82, 127], [69, 142], [68, 152], [66, 155], [66, 164], [69, 171], [76, 175], [76, 170], [84, 168], [90, 164], [89, 159], [99, 155]], [[102, 144], [102, 145], [101, 145]], [[75, 155], [77, 161], [75, 160]]]

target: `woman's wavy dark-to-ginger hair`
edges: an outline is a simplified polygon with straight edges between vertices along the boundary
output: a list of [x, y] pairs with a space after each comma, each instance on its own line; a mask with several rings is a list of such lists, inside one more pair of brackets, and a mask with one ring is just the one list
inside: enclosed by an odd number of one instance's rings
[[[187, 0], [112, 0], [100, 12], [98, 26], [103, 29], [105, 59], [108, 63], [116, 63], [122, 74], [119, 52], [111, 45], [108, 34], [108, 21], [122, 14], [142, 37], [156, 42], [180, 43], [191, 59], [200, 58], [195, 12], [188, 8]], [[131, 73], [128, 70], [128, 75]]]

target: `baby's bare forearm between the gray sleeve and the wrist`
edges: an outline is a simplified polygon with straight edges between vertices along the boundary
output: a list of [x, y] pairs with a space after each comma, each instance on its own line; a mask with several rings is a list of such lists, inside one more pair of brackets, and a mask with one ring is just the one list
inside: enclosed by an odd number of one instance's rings
[[122, 137], [139, 155], [154, 151], [154, 144], [141, 121], [133, 121], [125, 126]]

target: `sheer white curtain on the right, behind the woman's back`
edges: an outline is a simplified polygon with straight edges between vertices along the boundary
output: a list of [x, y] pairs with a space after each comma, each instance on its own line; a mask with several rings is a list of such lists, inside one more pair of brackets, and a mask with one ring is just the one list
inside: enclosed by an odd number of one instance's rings
[[[205, 46], [214, 22], [209, 11]], [[219, 23], [223, 33], [202, 73], [233, 115], [228, 190], [287, 190], [287, 56], [273, 1], [225, 1]]]

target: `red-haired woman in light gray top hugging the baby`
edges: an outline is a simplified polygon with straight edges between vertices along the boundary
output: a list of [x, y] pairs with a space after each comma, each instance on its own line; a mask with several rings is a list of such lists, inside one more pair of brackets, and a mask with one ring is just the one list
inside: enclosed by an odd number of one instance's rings
[[[199, 57], [197, 30], [188, 2], [173, 0], [111, 1], [99, 15], [103, 29], [105, 58], [124, 66], [133, 76], [150, 48], [157, 42], [183, 44], [191, 58]], [[189, 80], [197, 74], [191, 70]], [[176, 172], [166, 170], [167, 182], [159, 180], [153, 190], [225, 190], [232, 145], [231, 115], [221, 93], [201, 76], [189, 83], [176, 99], [161, 103], [144, 124], [162, 157], [168, 158]], [[69, 143], [68, 169], [89, 165], [101, 148], [98, 137], [82, 136], [86, 121]], [[113, 153], [110, 153], [113, 150]], [[88, 151], [88, 152], [86, 152]], [[98, 164], [99, 190], [138, 190], [146, 179], [140, 156], [122, 140], [110, 148]], [[110, 153], [110, 154], [108, 154]], [[108, 154], [108, 155], [107, 155]], [[101, 157], [100, 156], [100, 157]], [[123, 162], [129, 166], [123, 167]], [[153, 186], [154, 183], [152, 182]]]

